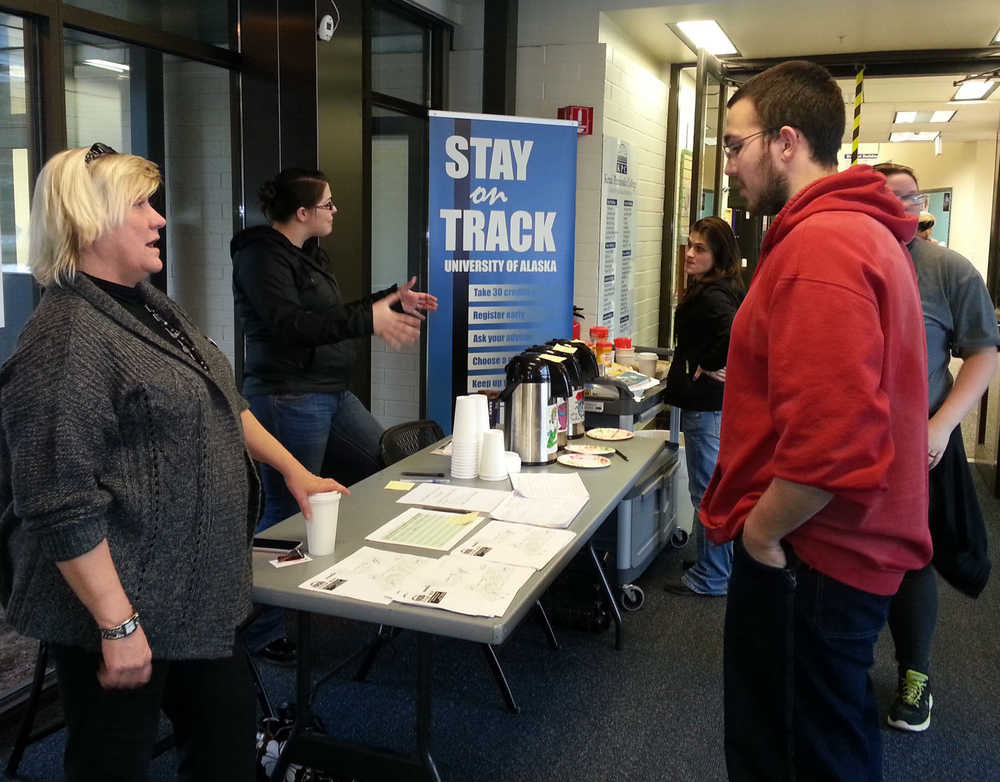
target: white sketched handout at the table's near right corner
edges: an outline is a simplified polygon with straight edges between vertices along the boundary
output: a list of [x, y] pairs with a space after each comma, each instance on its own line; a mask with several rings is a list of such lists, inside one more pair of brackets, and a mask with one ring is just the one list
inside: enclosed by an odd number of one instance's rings
[[533, 568], [449, 554], [421, 570], [393, 598], [470, 616], [503, 616]]

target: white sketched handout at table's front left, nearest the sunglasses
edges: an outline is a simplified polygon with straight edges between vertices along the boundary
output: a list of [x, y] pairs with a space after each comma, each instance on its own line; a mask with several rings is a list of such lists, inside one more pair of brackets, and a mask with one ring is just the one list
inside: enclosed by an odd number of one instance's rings
[[433, 566], [432, 557], [416, 557], [362, 546], [322, 573], [299, 584], [302, 589], [338, 597], [353, 597], [388, 605], [391, 595], [421, 568]]

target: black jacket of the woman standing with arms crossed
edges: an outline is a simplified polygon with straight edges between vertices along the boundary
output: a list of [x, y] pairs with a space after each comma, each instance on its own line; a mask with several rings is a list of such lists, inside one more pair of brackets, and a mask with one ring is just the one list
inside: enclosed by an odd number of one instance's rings
[[721, 410], [724, 383], [695, 370], [715, 371], [726, 365], [729, 330], [745, 294], [733, 280], [712, 280], [692, 291], [674, 313], [677, 347], [667, 373], [666, 401], [682, 410]]

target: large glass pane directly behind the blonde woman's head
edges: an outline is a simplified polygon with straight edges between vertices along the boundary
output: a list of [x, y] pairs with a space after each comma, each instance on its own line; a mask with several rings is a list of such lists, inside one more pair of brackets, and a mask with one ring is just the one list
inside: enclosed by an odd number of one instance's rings
[[167, 293], [231, 361], [229, 72], [69, 29], [65, 41], [69, 145], [162, 150]]

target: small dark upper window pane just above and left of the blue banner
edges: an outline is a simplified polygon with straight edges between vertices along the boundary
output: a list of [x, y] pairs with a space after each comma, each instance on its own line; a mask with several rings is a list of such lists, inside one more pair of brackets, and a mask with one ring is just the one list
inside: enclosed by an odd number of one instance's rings
[[421, 106], [427, 100], [427, 33], [423, 27], [376, 8], [372, 22], [372, 90]]

